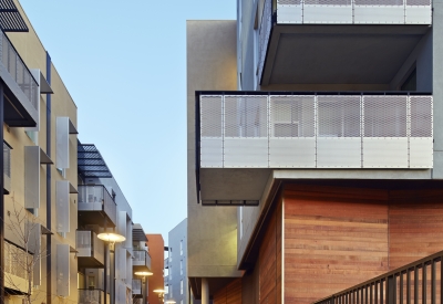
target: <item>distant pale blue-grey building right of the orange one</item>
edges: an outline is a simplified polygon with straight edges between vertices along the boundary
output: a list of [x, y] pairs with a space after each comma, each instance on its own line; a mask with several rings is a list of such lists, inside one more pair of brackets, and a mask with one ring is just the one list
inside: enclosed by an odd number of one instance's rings
[[177, 304], [189, 303], [187, 282], [187, 219], [181, 221], [168, 233], [168, 254], [165, 259], [165, 286], [168, 289], [167, 298]]

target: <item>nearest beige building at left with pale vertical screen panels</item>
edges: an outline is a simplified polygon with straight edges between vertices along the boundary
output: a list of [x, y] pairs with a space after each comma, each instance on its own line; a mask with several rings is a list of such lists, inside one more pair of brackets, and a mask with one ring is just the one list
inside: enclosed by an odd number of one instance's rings
[[0, 298], [76, 303], [76, 106], [18, 2], [0, 28]]

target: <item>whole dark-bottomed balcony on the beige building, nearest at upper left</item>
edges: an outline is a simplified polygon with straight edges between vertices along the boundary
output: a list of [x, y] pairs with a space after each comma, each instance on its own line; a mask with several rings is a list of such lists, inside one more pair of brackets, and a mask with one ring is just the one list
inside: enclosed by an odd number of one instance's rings
[[34, 127], [39, 119], [39, 85], [3, 32], [0, 33], [0, 78], [4, 84], [4, 122], [11, 127]]

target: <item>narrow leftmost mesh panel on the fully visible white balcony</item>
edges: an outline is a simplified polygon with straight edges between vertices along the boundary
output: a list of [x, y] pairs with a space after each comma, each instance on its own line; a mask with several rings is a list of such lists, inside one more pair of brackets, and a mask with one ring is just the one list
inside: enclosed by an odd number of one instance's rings
[[202, 96], [202, 137], [222, 137], [222, 96]]

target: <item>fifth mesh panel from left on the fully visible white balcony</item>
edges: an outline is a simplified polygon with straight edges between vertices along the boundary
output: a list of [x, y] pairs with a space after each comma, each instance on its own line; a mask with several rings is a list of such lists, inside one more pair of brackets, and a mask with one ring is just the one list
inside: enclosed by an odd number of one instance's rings
[[364, 137], [406, 137], [408, 96], [363, 96]]

